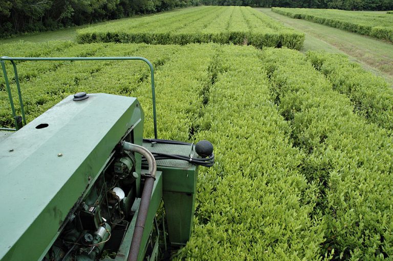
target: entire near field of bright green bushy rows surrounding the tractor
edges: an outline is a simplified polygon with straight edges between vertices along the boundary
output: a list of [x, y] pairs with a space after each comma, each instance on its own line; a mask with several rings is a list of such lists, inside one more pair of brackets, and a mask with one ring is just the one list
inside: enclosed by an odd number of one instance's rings
[[[200, 169], [191, 240], [174, 259], [393, 256], [393, 90], [344, 56], [216, 43], [18, 42], [0, 53], [154, 64], [159, 138], [208, 139], [216, 155]], [[139, 99], [152, 137], [146, 64], [18, 68], [28, 121], [78, 91], [114, 93]], [[0, 127], [13, 127], [3, 78]]]

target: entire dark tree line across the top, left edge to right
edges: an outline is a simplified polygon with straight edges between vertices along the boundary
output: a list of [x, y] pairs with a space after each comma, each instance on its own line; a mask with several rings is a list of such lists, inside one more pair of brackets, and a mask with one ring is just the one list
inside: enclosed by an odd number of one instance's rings
[[200, 4], [393, 10], [393, 0], [0, 0], [0, 37]]

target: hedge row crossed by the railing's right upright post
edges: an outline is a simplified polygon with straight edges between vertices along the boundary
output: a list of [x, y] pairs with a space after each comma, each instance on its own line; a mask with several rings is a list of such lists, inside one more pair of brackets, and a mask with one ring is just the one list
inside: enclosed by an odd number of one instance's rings
[[[188, 140], [193, 132], [193, 120], [203, 107], [203, 89], [210, 83], [208, 68], [216, 50], [198, 44], [171, 48], [179, 51], [168, 53], [168, 60], [156, 73], [158, 133], [160, 138]], [[134, 94], [148, 111], [145, 114], [149, 114], [145, 118], [145, 136], [153, 133], [150, 89], [150, 81], [145, 81]]]

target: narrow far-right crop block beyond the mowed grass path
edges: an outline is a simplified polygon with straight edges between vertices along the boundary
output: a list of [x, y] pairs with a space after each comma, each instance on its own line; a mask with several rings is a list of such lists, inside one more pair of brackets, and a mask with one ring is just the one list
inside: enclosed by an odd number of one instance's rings
[[272, 8], [272, 11], [293, 18], [393, 41], [393, 16], [389, 13], [276, 7]]

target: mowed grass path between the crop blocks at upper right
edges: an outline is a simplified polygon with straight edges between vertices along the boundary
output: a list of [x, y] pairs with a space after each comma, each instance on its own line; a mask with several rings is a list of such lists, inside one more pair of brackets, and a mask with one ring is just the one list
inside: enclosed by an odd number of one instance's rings
[[384, 77], [393, 86], [393, 44], [302, 19], [294, 19], [258, 8], [259, 11], [305, 33], [301, 51], [325, 50], [348, 55], [364, 68]]

